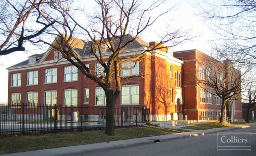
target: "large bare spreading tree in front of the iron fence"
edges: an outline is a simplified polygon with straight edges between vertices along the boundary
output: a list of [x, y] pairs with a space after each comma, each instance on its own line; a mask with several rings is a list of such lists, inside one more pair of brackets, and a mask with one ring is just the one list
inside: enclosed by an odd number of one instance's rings
[[[149, 47], [145, 46], [143, 51], [138, 51], [133, 56], [127, 59], [120, 59], [119, 54], [132, 46], [138, 38], [148, 27], [152, 26], [157, 20], [168, 14], [173, 7], [155, 14], [155, 10], [164, 4], [165, 0], [155, 1], [153, 4], [143, 4], [140, 0], [95, 0], [97, 7], [95, 12], [88, 15], [83, 10], [73, 9], [71, 3], [55, 3], [50, 7], [54, 9], [55, 14], [42, 14], [46, 21], [51, 19], [58, 19], [52, 25], [54, 31], [51, 35], [56, 35], [55, 41], [50, 43], [38, 38], [38, 40], [31, 40], [33, 43], [44, 43], [52, 46], [60, 51], [69, 62], [76, 66], [88, 78], [98, 83], [103, 88], [106, 94], [107, 111], [106, 111], [106, 130], [107, 135], [114, 135], [114, 106], [116, 100], [121, 92], [121, 80], [130, 77], [121, 77], [122, 70], [132, 69], [137, 66], [142, 60], [146, 52], [156, 50], [159, 45], [167, 42], [172, 42], [175, 46], [185, 40], [189, 40], [189, 31], [173, 30], [169, 32], [168, 28], [157, 45]], [[75, 13], [80, 11], [80, 17], [76, 18]], [[81, 15], [84, 15], [81, 17]], [[81, 19], [88, 19], [83, 21]], [[82, 34], [87, 37], [88, 41], [77, 39], [76, 34]], [[133, 34], [133, 35], [129, 35]], [[81, 43], [88, 43], [91, 48], [91, 54], [100, 64], [102, 72], [100, 76], [97, 73], [90, 71], [82, 61], [81, 56], [75, 50], [75, 46]], [[107, 55], [105, 48], [107, 48]], [[124, 68], [121, 65], [133, 62], [132, 67]], [[140, 74], [139, 76], [142, 76]]]

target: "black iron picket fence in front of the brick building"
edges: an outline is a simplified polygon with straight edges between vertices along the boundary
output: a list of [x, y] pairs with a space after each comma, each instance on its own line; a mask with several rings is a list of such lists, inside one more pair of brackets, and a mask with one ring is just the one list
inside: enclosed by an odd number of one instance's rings
[[[150, 124], [149, 109], [115, 108], [115, 128]], [[0, 135], [104, 129], [106, 106], [27, 106], [0, 104]]]

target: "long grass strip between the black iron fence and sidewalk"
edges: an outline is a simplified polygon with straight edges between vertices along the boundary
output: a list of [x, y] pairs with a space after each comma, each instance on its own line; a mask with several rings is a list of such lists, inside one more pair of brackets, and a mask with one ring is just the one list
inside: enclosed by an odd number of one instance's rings
[[115, 136], [105, 135], [103, 130], [23, 136], [0, 136], [0, 154], [85, 145], [98, 142], [133, 139], [138, 137], [157, 136], [179, 132], [184, 132], [184, 130], [147, 126], [139, 128], [115, 129]]

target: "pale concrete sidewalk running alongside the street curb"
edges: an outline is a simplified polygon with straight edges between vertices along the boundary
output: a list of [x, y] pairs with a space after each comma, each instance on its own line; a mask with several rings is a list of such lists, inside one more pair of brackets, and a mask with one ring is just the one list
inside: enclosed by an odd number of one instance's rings
[[[193, 124], [195, 124], [195, 123], [193, 123]], [[200, 123], [197, 123], [197, 124], [200, 124]], [[192, 125], [192, 124], [188, 124], [188, 125]], [[187, 126], [187, 125], [182, 125], [182, 126]], [[192, 136], [212, 134], [212, 133], [227, 131], [227, 130], [248, 128], [250, 126], [256, 126], [256, 122], [240, 124], [240, 125], [231, 125], [229, 127], [217, 128], [217, 129], [191, 130], [190, 132], [183, 132], [183, 133], [176, 133], [176, 134], [142, 137], [142, 138], [129, 139], [129, 140], [102, 142], [102, 143], [97, 143], [97, 144], [61, 147], [61, 148], [55, 148], [55, 149], [19, 152], [19, 153], [13, 153], [13, 154], [5, 154], [5, 155], [6, 156], [79, 155], [79, 154], [85, 154], [85, 153], [94, 152], [94, 151], [103, 151], [103, 150], [124, 148], [124, 147], [136, 146], [136, 145], [153, 144], [155, 142], [163, 142], [163, 141], [168, 141], [168, 140], [181, 139], [184, 137], [192, 137]], [[174, 127], [172, 127], [172, 128], [174, 128]], [[5, 155], [3, 155], [3, 156], [5, 156]]]

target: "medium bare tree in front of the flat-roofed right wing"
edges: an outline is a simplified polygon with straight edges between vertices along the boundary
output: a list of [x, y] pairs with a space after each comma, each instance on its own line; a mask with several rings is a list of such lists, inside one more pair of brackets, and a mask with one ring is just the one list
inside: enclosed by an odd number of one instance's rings
[[[199, 78], [196, 83], [203, 88], [204, 94], [212, 94], [221, 100], [220, 123], [224, 123], [226, 104], [230, 100], [241, 99], [241, 80], [244, 74], [234, 68], [231, 61], [217, 61], [214, 58], [201, 58], [199, 62]], [[208, 90], [211, 88], [214, 90]], [[200, 93], [201, 94], [201, 93]], [[206, 97], [205, 95], [200, 95]]]

